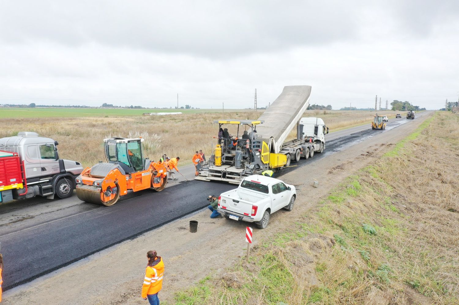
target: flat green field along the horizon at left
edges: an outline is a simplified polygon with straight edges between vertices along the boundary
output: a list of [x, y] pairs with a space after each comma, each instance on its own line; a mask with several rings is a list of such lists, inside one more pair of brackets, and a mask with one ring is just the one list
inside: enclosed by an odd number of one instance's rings
[[[250, 111], [250, 109], [246, 109]], [[221, 109], [129, 109], [129, 108], [0, 108], [0, 118], [49, 118], [88, 116], [134, 116], [146, 112], [182, 112], [184, 114], [221, 112]], [[225, 112], [227, 110], [225, 109]], [[228, 111], [234, 111], [228, 109]], [[243, 111], [243, 110], [238, 110]]]

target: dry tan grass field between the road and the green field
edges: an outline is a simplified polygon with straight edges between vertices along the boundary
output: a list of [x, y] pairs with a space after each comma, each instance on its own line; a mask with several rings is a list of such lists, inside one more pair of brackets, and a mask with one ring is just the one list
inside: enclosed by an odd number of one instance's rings
[[[382, 112], [381, 112], [382, 113]], [[387, 113], [395, 114], [392, 111]], [[61, 158], [92, 166], [104, 159], [102, 140], [108, 136], [144, 135], [146, 155], [157, 160], [163, 153], [169, 157], [189, 160], [196, 150], [207, 155], [216, 144], [219, 119], [257, 119], [261, 112], [241, 110], [228, 113], [196, 113], [177, 116], [129, 116], [86, 118], [10, 118], [0, 119], [3, 126], [0, 138], [17, 135], [18, 131], [35, 131], [59, 142]], [[373, 112], [308, 110], [304, 116], [318, 116], [325, 120], [330, 131], [344, 126], [370, 122]], [[235, 134], [235, 130], [229, 130]], [[184, 163], [182, 162], [182, 163]]]

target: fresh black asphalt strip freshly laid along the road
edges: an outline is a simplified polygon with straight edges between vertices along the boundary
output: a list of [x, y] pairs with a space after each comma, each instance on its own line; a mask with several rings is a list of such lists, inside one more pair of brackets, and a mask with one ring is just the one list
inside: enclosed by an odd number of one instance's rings
[[[394, 121], [400, 125], [402, 121]], [[384, 131], [359, 131], [331, 140], [322, 154], [282, 169], [276, 177]], [[296, 165], [295, 163], [291, 163]], [[112, 207], [90, 203], [77, 214], [1, 235], [5, 262], [3, 289], [11, 289], [67, 266], [95, 252], [132, 239], [207, 206], [206, 197], [234, 189], [218, 182], [186, 181], [161, 192], [140, 191], [122, 197]]]

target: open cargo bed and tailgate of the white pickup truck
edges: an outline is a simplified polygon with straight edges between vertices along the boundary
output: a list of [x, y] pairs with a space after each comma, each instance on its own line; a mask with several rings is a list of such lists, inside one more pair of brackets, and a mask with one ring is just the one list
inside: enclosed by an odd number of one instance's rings
[[228, 210], [228, 212], [250, 216], [252, 214], [252, 205], [257, 205], [257, 202], [267, 197], [267, 195], [253, 191], [235, 189], [220, 195], [220, 207]]

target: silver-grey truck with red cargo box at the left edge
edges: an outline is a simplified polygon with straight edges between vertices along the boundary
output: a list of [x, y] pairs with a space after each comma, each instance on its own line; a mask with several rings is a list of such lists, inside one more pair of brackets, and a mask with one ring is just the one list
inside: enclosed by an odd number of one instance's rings
[[21, 131], [0, 139], [0, 202], [45, 196], [72, 196], [75, 178], [83, 171], [76, 161], [63, 160], [57, 141]]

